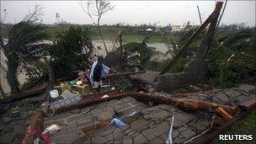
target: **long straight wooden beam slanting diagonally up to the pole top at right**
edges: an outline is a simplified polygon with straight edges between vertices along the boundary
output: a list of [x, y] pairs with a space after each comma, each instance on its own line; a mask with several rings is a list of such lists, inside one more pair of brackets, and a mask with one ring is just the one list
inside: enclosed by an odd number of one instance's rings
[[205, 22], [204, 22], [204, 24], [202, 24], [202, 25], [200, 26], [200, 28], [195, 31], [195, 34], [190, 37], [190, 39], [187, 41], [187, 43], [180, 49], [180, 51], [178, 52], [178, 54], [173, 57], [173, 59], [168, 63], [168, 65], [163, 68], [163, 70], [160, 72], [160, 75], [162, 75], [162, 74], [168, 72], [168, 70], [170, 69], [170, 67], [172, 67], [173, 64], [174, 64], [176, 61], [178, 61], [179, 57], [182, 56], [182, 55], [184, 54], [184, 52], [188, 50], [189, 45], [192, 44], [192, 42], [198, 37], [198, 35], [200, 35], [200, 33], [206, 28], [206, 26], [207, 26], [208, 24], [210, 24], [213, 19], [216, 19], [216, 15], [218, 16], [219, 13], [220, 13], [220, 11], [221, 11], [222, 4], [223, 4], [223, 2], [217, 2], [217, 3], [216, 3], [216, 8], [215, 8], [214, 11], [211, 13], [211, 15], [208, 17], [208, 19], [206, 19]]

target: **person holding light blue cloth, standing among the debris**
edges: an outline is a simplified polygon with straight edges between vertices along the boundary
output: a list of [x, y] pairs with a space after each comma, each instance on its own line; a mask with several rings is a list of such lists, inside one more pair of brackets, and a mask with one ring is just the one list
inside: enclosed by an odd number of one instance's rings
[[90, 69], [90, 82], [93, 85], [93, 88], [96, 88], [98, 93], [100, 91], [100, 86], [102, 85], [102, 77], [105, 77], [110, 70], [110, 68], [106, 67], [102, 61], [103, 57], [99, 56], [98, 60], [93, 62]]

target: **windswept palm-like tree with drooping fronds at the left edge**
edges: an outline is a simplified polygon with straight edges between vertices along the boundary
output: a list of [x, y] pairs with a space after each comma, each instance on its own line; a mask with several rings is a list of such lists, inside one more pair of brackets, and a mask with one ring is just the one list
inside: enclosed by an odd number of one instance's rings
[[35, 6], [33, 12], [29, 12], [18, 24], [9, 27], [1, 22], [1, 28], [8, 29], [7, 41], [0, 35], [0, 45], [3, 54], [7, 57], [7, 78], [11, 93], [19, 93], [17, 74], [26, 72], [29, 77], [41, 75], [44, 65], [40, 61], [40, 53], [45, 44], [41, 41], [47, 38], [45, 26], [40, 24], [42, 8]]

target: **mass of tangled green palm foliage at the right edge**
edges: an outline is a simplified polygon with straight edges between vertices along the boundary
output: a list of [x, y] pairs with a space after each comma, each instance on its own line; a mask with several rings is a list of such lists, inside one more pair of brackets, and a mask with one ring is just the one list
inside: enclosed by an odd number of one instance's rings
[[250, 77], [255, 78], [255, 29], [219, 31], [214, 39], [209, 55], [209, 73], [213, 83], [221, 87], [241, 83]]

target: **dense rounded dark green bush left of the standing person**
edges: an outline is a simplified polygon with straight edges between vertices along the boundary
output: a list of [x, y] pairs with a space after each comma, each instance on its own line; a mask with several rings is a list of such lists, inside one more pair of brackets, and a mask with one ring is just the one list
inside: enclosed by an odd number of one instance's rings
[[88, 28], [70, 27], [56, 36], [48, 52], [53, 59], [57, 78], [74, 76], [74, 71], [88, 67], [92, 59], [93, 44], [88, 36]]

